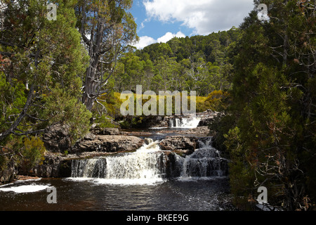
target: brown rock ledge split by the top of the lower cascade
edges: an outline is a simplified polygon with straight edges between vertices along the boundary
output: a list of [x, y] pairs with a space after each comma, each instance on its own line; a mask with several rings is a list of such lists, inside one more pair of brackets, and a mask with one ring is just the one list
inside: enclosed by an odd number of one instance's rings
[[[190, 155], [198, 148], [198, 139], [195, 136], [166, 136], [159, 143], [159, 146], [169, 153]], [[19, 174], [38, 177], [70, 177], [72, 160], [135, 151], [143, 146], [146, 141], [148, 139], [140, 139], [136, 136], [88, 134], [84, 139], [77, 141], [67, 155], [46, 151], [42, 165], [38, 165], [29, 171], [19, 171]], [[169, 156], [173, 157], [172, 154]], [[170, 161], [173, 162], [172, 159]]]

